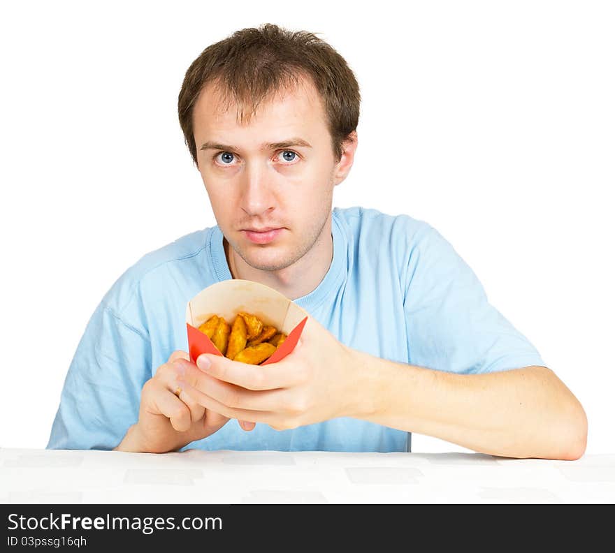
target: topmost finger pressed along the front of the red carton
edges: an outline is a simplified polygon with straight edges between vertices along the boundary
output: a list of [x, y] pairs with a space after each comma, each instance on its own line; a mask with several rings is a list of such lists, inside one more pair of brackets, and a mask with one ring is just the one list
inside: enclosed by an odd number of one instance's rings
[[205, 374], [247, 390], [289, 388], [301, 382], [298, 371], [294, 371], [291, 364], [282, 362], [261, 366], [203, 353], [196, 359], [196, 366]]

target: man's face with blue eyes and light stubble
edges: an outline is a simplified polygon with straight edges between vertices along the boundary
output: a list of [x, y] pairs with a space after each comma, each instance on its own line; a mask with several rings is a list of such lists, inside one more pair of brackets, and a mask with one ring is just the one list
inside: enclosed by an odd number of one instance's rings
[[216, 221], [248, 265], [282, 270], [330, 228], [333, 188], [350, 167], [340, 170], [344, 162], [335, 160], [321, 100], [307, 80], [261, 103], [245, 124], [236, 106], [219, 104], [208, 86], [194, 107], [198, 170]]

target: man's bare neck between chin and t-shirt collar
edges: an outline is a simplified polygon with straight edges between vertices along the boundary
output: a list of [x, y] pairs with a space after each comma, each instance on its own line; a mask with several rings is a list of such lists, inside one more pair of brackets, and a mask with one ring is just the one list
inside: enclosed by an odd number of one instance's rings
[[259, 282], [277, 292], [296, 300], [315, 290], [326, 275], [333, 261], [333, 238], [331, 237], [331, 216], [323, 227], [310, 251], [295, 263], [278, 271], [255, 269], [245, 263], [224, 238], [226, 261], [233, 279]]

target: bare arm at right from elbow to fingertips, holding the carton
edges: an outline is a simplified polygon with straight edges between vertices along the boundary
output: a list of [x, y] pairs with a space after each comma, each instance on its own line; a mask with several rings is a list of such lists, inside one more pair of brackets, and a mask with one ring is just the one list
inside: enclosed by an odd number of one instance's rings
[[349, 348], [311, 317], [279, 362], [180, 362], [178, 385], [196, 403], [276, 430], [353, 417], [502, 457], [572, 460], [586, 448], [585, 411], [547, 367], [426, 369]]

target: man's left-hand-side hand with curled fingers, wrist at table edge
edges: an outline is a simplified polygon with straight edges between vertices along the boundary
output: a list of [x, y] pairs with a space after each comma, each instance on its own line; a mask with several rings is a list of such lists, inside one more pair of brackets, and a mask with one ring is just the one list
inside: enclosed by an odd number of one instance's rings
[[185, 351], [174, 351], [143, 385], [139, 420], [115, 451], [175, 451], [210, 436], [226, 424], [229, 419], [224, 415], [205, 409], [180, 390], [178, 378], [184, 376], [180, 360], [189, 359]]

